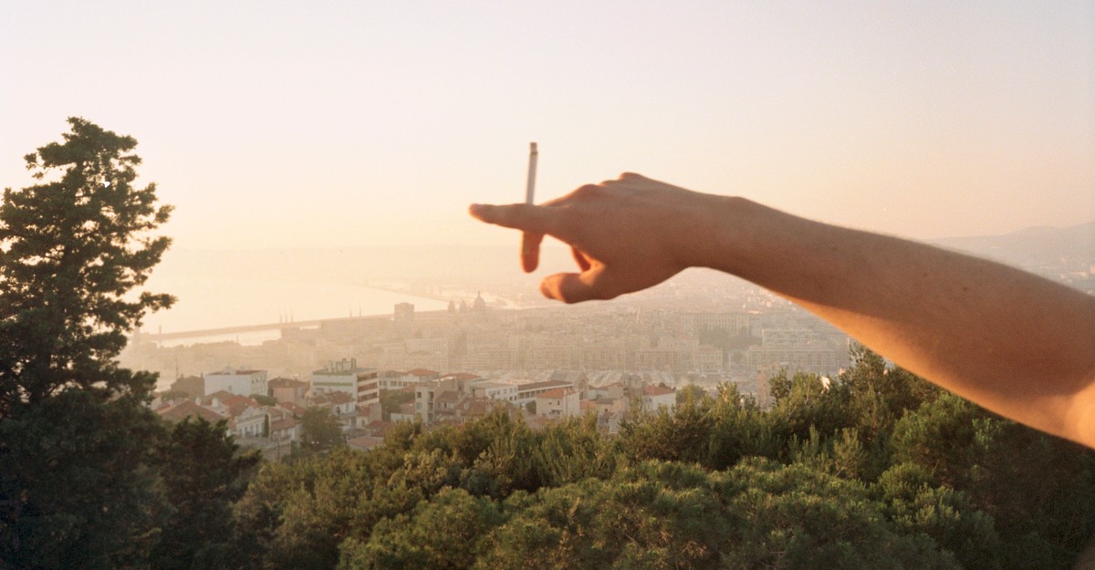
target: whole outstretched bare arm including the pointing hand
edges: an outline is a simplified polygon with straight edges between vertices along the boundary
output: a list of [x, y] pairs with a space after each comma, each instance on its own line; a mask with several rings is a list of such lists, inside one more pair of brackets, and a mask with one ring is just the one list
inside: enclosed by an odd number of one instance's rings
[[522, 232], [521, 265], [551, 235], [580, 271], [543, 279], [566, 303], [653, 287], [688, 267], [736, 275], [988, 409], [1095, 447], [1095, 296], [1018, 269], [700, 194], [637, 174], [549, 202], [473, 205]]

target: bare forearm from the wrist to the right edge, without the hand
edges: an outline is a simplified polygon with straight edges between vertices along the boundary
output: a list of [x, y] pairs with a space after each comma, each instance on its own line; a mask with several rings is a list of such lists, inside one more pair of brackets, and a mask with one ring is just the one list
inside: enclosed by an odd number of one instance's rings
[[1095, 445], [1095, 298], [929, 245], [719, 203], [695, 265], [791, 299], [989, 409]]

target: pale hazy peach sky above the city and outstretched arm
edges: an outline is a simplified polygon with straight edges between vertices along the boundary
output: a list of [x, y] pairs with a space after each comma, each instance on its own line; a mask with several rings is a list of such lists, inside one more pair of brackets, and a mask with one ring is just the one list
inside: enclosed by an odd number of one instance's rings
[[516, 242], [634, 171], [914, 237], [1095, 220], [1095, 3], [0, 0], [0, 186], [136, 137], [175, 246]]

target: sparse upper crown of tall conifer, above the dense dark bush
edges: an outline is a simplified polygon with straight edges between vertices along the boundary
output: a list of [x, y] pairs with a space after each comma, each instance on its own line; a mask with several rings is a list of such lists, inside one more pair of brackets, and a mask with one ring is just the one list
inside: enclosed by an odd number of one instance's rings
[[170, 241], [150, 235], [171, 208], [132, 185], [137, 141], [79, 118], [65, 142], [26, 155], [38, 179], [0, 205], [0, 417], [66, 386], [143, 397], [149, 374], [118, 369], [125, 334], [170, 295], [130, 295]]

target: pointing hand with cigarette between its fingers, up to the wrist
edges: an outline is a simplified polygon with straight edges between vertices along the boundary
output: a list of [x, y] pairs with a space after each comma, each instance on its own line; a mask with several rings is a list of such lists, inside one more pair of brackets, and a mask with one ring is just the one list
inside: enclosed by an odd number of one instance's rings
[[537, 268], [544, 235], [570, 246], [579, 274], [544, 278], [550, 299], [577, 303], [613, 299], [658, 284], [691, 265], [714, 229], [712, 200], [637, 174], [583, 186], [541, 206], [472, 205], [487, 223], [523, 232], [521, 266]]

